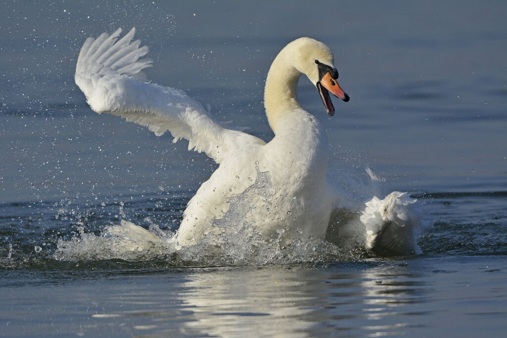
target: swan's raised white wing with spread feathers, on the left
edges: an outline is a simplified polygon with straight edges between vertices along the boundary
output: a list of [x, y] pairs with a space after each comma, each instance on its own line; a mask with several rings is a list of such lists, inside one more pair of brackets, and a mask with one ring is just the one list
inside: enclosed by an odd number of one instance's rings
[[121, 29], [102, 33], [97, 39], [89, 37], [81, 48], [75, 80], [94, 111], [121, 116], [157, 136], [169, 131], [174, 142], [185, 138], [189, 150], [204, 152], [217, 163], [238, 147], [265, 144], [255, 136], [223, 128], [184, 91], [147, 82], [142, 69], [153, 61], [143, 58], [148, 47], [132, 41], [134, 32], [132, 28], [120, 40]]

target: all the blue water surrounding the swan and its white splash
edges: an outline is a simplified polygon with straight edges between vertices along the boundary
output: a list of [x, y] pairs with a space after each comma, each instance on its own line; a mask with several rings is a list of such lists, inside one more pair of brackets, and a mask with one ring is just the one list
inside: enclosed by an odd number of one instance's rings
[[[503, 2], [0, 8], [0, 334], [504, 334]], [[215, 168], [185, 142], [85, 104], [73, 80], [79, 48], [131, 26], [150, 47], [153, 82], [266, 140], [262, 90], [273, 57], [302, 35], [331, 46], [350, 102], [335, 102], [328, 119], [303, 80], [300, 100], [322, 113], [333, 172], [357, 182], [355, 193], [370, 166], [389, 190], [425, 203], [436, 223], [420, 238], [423, 254], [382, 258], [312, 242], [290, 254], [271, 247], [271, 264], [252, 265], [198, 249], [105, 259], [95, 242], [88, 256], [58, 256], [59, 243], [100, 239], [121, 219], [170, 234]]]

